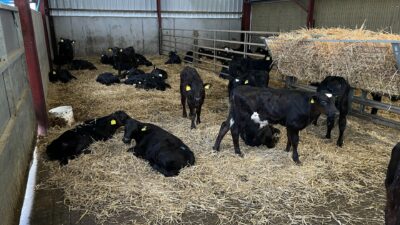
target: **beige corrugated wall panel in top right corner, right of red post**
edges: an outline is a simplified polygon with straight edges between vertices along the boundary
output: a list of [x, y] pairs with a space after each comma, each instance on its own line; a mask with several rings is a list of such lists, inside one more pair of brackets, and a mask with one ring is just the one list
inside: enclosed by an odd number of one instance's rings
[[400, 33], [399, 0], [316, 0], [317, 27], [360, 27]]

